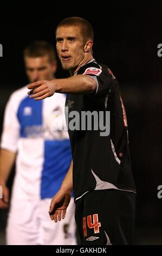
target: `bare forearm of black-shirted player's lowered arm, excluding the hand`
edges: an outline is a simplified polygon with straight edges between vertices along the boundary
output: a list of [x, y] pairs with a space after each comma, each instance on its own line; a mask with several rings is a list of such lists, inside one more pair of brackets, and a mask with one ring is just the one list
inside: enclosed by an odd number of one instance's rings
[[69, 170], [62, 181], [61, 190], [71, 193], [73, 190], [73, 161], [70, 164]]

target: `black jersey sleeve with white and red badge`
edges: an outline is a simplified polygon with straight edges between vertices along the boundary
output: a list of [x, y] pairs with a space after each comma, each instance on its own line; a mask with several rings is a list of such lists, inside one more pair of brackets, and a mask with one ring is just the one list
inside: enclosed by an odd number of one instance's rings
[[96, 65], [95, 63], [89, 63], [89, 65], [88, 67], [86, 65], [85, 69], [82, 69], [82, 75], [90, 76], [96, 82], [96, 90], [90, 95], [108, 95], [114, 80], [116, 80], [115, 77], [110, 74], [106, 66]]

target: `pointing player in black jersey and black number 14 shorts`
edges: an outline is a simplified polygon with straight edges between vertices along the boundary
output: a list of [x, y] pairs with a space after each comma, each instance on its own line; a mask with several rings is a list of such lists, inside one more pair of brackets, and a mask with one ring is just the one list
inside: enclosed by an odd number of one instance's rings
[[67, 93], [73, 161], [49, 214], [51, 220], [61, 221], [74, 190], [82, 244], [128, 245], [134, 231], [135, 185], [125, 107], [112, 71], [93, 58], [93, 38], [92, 26], [85, 19], [61, 21], [56, 28], [56, 48], [62, 68], [71, 77], [28, 86], [35, 100]]

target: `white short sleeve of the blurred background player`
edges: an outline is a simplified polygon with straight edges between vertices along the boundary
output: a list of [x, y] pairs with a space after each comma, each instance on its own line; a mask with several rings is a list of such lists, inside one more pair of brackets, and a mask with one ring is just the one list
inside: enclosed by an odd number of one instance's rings
[[18, 138], [20, 137], [20, 124], [17, 119], [15, 100], [14, 95], [11, 95], [5, 107], [1, 136], [1, 148], [14, 152], [17, 151]]

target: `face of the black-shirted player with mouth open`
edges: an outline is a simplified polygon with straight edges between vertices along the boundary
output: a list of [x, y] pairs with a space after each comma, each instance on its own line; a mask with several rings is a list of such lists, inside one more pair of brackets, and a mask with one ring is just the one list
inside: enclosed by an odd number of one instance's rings
[[56, 49], [63, 69], [81, 65], [85, 58], [84, 46], [79, 26], [61, 26], [57, 29]]

